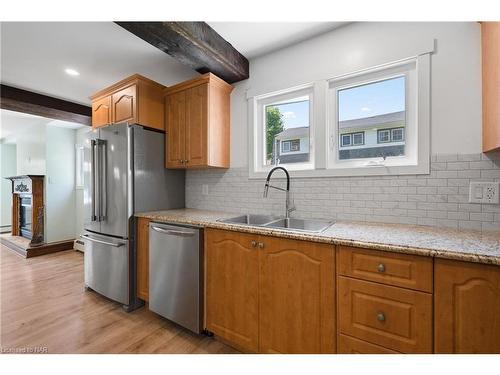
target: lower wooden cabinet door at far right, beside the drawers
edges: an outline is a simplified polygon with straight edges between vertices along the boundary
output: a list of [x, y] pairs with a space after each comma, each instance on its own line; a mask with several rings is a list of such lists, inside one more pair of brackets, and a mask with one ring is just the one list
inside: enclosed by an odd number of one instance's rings
[[435, 261], [436, 353], [500, 353], [500, 267]]

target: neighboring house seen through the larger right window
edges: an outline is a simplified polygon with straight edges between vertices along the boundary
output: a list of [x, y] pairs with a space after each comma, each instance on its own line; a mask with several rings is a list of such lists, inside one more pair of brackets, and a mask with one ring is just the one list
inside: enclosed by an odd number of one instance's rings
[[405, 111], [339, 122], [339, 159], [404, 155]]

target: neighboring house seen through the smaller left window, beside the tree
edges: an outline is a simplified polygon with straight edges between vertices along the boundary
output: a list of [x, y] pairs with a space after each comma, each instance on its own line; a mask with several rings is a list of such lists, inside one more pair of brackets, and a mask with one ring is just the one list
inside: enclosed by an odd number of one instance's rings
[[300, 163], [309, 161], [309, 126], [289, 128], [276, 134], [274, 149], [278, 163]]

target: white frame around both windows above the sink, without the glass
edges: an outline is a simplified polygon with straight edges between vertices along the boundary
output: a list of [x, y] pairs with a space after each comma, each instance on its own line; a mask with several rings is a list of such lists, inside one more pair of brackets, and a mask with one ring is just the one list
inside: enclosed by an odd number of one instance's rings
[[[293, 177], [333, 177], [333, 176], [373, 176], [373, 175], [407, 175], [430, 173], [430, 54], [431, 48], [421, 54], [383, 64], [354, 73], [340, 75], [334, 78], [315, 81], [290, 89], [275, 91], [269, 94], [256, 95], [247, 92], [248, 98], [248, 150], [249, 150], [249, 178], [265, 178], [268, 171], [274, 166], [264, 166], [265, 157], [264, 131], [262, 125], [262, 105], [286, 101], [297, 97], [300, 93], [309, 95], [309, 163], [304, 168], [303, 163], [283, 164]], [[414, 65], [412, 95], [414, 95], [411, 115], [413, 118], [413, 145], [414, 157], [404, 160], [401, 157], [389, 157], [386, 160], [377, 158], [357, 159], [356, 163], [338, 164], [340, 138], [337, 126], [335, 106], [332, 106], [332, 82], [347, 83], [351, 80], [353, 86], [358, 86], [363, 80], [379, 81], [388, 76], [393, 69], [394, 74], [401, 74], [401, 67]], [[398, 71], [399, 69], [399, 71]], [[403, 69], [404, 70], [404, 69]], [[378, 74], [378, 79], [377, 79]], [[357, 83], [357, 84], [356, 84]], [[407, 85], [407, 87], [409, 87]], [[406, 95], [408, 98], [408, 94]], [[336, 103], [333, 102], [333, 103]], [[260, 119], [260, 120], [259, 120]], [[259, 122], [260, 121], [260, 122]], [[408, 126], [408, 121], [405, 124]], [[404, 140], [408, 140], [408, 128], [405, 128]], [[366, 141], [366, 140], [365, 140]], [[351, 142], [352, 143], [352, 142]], [[406, 145], [408, 142], [405, 143]], [[352, 147], [352, 146], [350, 146]], [[406, 146], [405, 146], [406, 147]], [[360, 163], [360, 160], [362, 161]], [[364, 164], [364, 165], [363, 165]]]

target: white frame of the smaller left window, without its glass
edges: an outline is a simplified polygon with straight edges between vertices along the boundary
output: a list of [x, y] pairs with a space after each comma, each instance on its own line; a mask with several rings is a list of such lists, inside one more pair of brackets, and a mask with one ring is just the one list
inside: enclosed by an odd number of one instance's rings
[[309, 161], [304, 163], [280, 163], [279, 165], [286, 167], [290, 171], [314, 170], [314, 85], [308, 84], [253, 98], [253, 108], [250, 108], [249, 111], [253, 117], [251, 121], [253, 123], [253, 132], [250, 133], [251, 136], [249, 137], [249, 148], [250, 150], [252, 150], [249, 159], [250, 177], [265, 177], [267, 176], [267, 173], [275, 167], [275, 165], [264, 165], [264, 161], [266, 158], [265, 107], [273, 104], [279, 105], [282, 103], [289, 103], [295, 99], [300, 99], [306, 96], [309, 98]]

